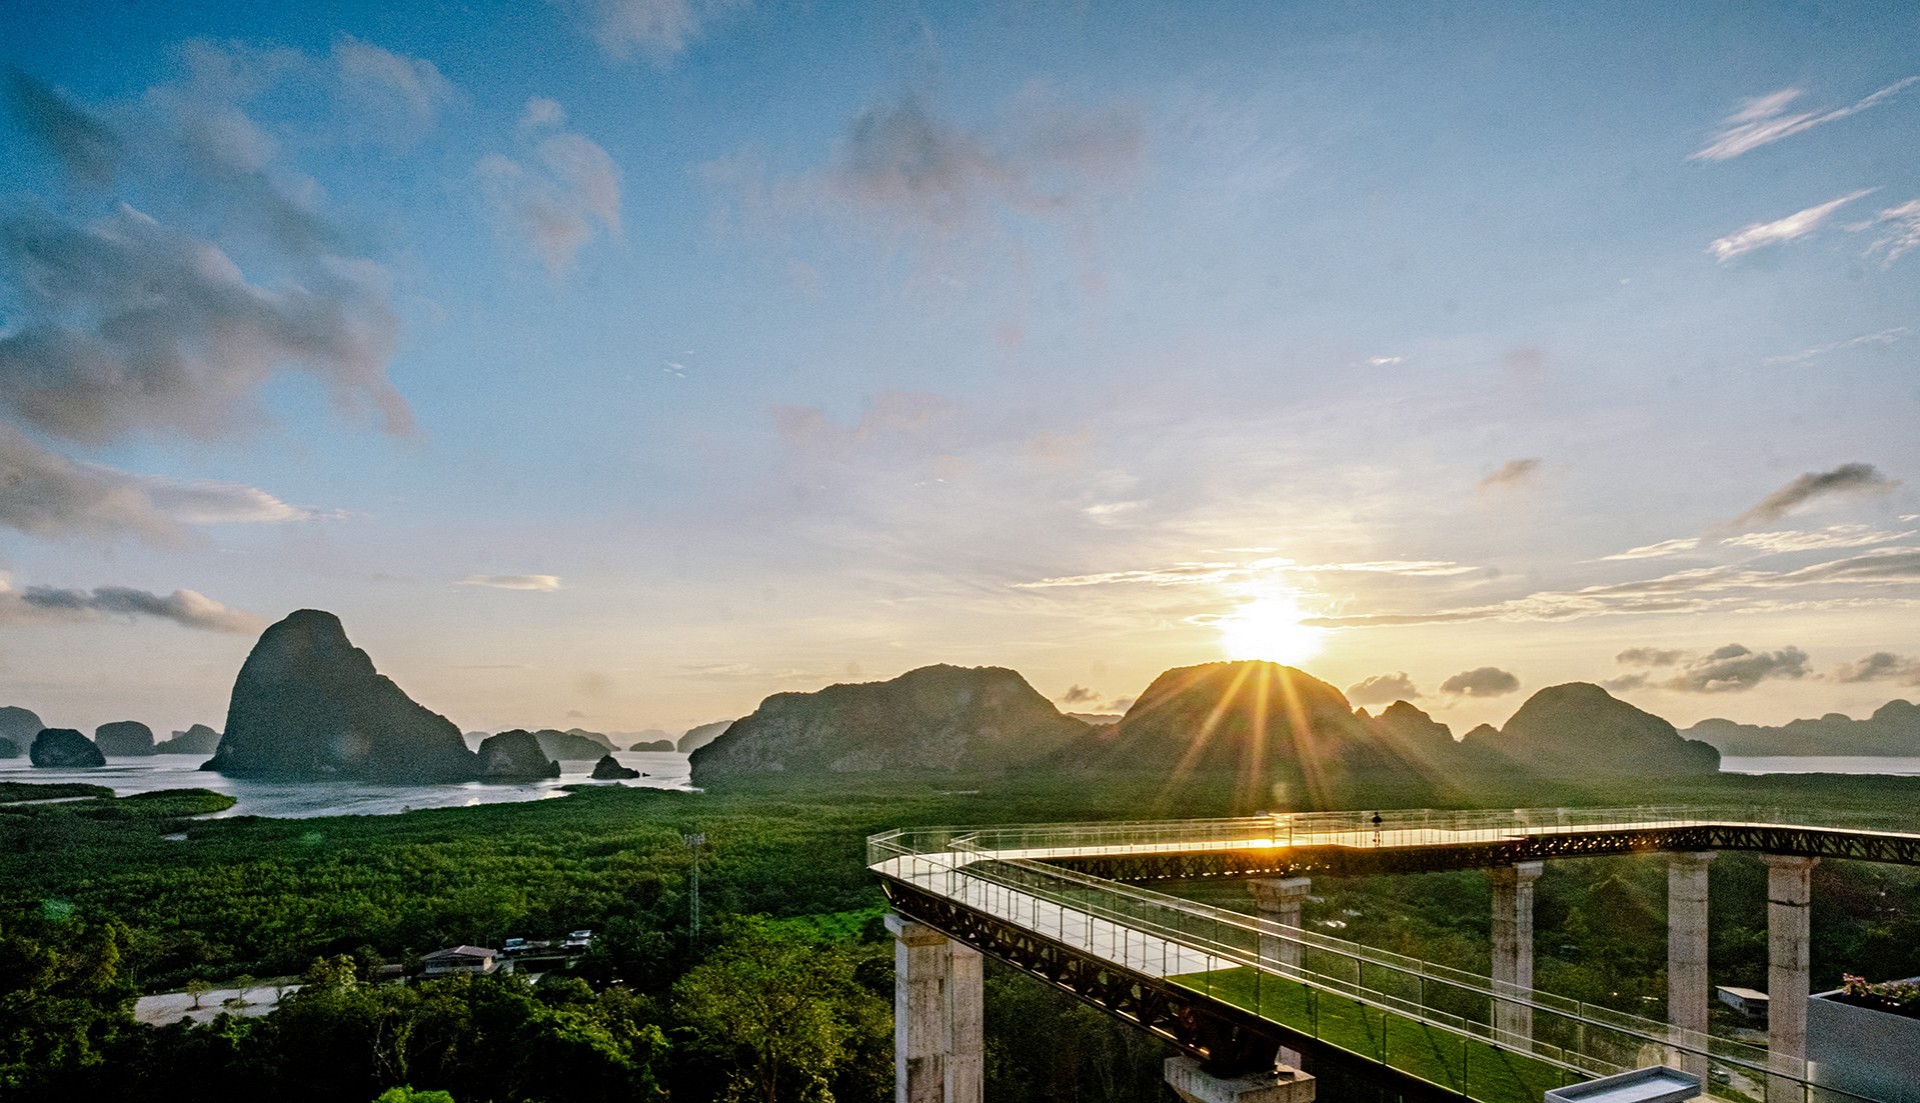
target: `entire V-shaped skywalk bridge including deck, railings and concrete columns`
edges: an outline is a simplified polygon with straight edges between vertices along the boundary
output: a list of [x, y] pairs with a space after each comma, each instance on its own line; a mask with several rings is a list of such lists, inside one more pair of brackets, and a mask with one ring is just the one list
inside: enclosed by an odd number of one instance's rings
[[[1375, 819], [1375, 815], [1379, 819]], [[1768, 874], [1768, 1047], [1707, 1026], [1707, 863]], [[1668, 855], [1670, 1022], [1532, 988], [1542, 863]], [[1290, 813], [1215, 821], [908, 828], [868, 840], [893, 903], [900, 1103], [979, 1103], [979, 955], [1148, 1030], [1210, 1074], [1357, 1070], [1405, 1099], [1538, 1103], [1649, 1065], [1734, 1103], [1855, 1103], [1805, 1061], [1811, 870], [1822, 857], [1920, 865], [1920, 834], [1684, 809]], [[1304, 930], [1306, 872], [1486, 869], [1494, 970], [1478, 976]], [[1258, 915], [1142, 888], [1248, 878]], [[1711, 1074], [1709, 1074], [1711, 1072]], [[1281, 1095], [1284, 1097], [1284, 1093]]]

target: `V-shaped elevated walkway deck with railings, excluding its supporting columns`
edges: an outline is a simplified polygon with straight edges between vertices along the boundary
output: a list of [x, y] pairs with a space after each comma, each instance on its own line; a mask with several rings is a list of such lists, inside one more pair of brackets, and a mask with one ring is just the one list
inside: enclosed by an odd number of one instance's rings
[[[1847, 1103], [1801, 1061], [1119, 880], [1304, 869], [1461, 869], [1592, 853], [1764, 849], [1920, 865], [1920, 834], [1674, 809], [1313, 813], [1152, 824], [900, 830], [870, 840], [893, 905], [1188, 1053], [1329, 1047], [1434, 1097], [1536, 1103], [1548, 1088], [1703, 1055], [1715, 1099]], [[1104, 876], [1096, 876], [1104, 874]], [[1498, 1032], [1494, 1005], [1530, 1009]]]

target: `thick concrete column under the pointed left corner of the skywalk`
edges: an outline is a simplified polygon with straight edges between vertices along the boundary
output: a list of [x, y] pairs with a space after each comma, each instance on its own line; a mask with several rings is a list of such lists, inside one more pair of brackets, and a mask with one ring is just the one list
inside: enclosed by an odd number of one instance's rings
[[899, 915], [893, 932], [895, 1103], [981, 1103], [979, 951]]

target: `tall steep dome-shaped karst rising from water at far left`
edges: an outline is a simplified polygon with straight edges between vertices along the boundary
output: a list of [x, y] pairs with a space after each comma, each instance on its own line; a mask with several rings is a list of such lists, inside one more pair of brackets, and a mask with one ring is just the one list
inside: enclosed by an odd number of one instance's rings
[[415, 703], [348, 642], [340, 617], [300, 609], [271, 625], [234, 680], [227, 732], [202, 767], [228, 776], [451, 782], [480, 759], [459, 728]]

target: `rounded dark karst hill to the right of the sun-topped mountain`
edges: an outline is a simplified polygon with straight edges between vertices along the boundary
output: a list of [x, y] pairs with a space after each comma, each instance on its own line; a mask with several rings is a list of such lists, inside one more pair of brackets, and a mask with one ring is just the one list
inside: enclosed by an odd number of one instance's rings
[[1476, 730], [1465, 746], [1548, 776], [1674, 776], [1720, 769], [1713, 746], [1682, 738], [1667, 721], [1592, 682], [1548, 686], [1498, 734]]

